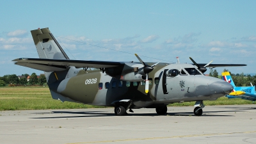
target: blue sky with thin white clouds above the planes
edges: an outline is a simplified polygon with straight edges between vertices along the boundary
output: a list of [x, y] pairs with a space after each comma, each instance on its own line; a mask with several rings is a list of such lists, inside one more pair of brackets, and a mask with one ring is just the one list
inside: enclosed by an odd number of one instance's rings
[[70, 59], [138, 61], [137, 53], [143, 61], [176, 62], [179, 56], [182, 63], [189, 57], [243, 63], [227, 69], [256, 73], [256, 1], [0, 2], [0, 76], [43, 73], [12, 61], [38, 58], [30, 33], [37, 28], [49, 28]]

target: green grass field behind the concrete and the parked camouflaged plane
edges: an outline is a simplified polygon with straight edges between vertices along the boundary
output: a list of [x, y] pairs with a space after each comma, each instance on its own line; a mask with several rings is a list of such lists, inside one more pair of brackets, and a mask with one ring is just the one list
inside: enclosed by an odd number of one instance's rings
[[[183, 102], [170, 104], [168, 106], [194, 106], [195, 102]], [[205, 100], [205, 106], [252, 104], [250, 100], [227, 99], [221, 97], [218, 100]], [[4, 110], [31, 110], [31, 109], [86, 109], [106, 108], [78, 104], [75, 102], [61, 102], [51, 97], [47, 87], [0, 87], [0, 111]]]

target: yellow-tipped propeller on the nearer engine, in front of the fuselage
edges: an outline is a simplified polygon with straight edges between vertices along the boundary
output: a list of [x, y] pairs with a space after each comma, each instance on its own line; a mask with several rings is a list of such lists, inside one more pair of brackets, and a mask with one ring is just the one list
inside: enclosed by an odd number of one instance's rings
[[152, 72], [152, 70], [154, 70], [154, 66], [156, 66], [158, 63], [155, 63], [154, 65], [147, 65], [147, 63], [144, 63], [144, 61], [142, 61], [140, 59], [140, 57], [138, 56], [138, 54], [135, 54], [135, 56], [138, 58], [138, 60], [140, 61], [140, 63], [142, 65], [144, 65], [143, 67], [143, 73], [146, 74], [146, 83], [145, 83], [145, 92], [148, 93], [148, 86], [149, 86], [149, 82], [148, 82], [148, 73]]

